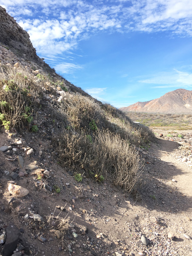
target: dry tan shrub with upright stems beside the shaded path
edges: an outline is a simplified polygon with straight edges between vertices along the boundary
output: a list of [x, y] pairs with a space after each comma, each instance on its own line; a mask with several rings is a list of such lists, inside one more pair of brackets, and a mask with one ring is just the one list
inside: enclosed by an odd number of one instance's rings
[[108, 175], [114, 184], [131, 192], [141, 173], [138, 152], [119, 134], [98, 130], [91, 139], [85, 131], [65, 132], [58, 138], [57, 150], [61, 164], [81, 167], [95, 175]]

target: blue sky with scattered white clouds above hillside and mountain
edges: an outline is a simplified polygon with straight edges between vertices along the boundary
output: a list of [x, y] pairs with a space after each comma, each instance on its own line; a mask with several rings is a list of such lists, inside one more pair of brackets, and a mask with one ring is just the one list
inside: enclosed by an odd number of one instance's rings
[[0, 0], [39, 57], [113, 106], [192, 90], [192, 0]]

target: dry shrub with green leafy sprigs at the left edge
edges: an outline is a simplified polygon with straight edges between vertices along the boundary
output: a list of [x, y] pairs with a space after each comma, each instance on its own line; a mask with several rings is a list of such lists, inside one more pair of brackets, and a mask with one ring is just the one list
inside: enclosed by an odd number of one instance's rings
[[0, 69], [0, 113], [11, 127], [18, 125], [21, 128], [27, 117], [32, 116], [37, 97], [42, 97], [41, 87], [26, 70]]

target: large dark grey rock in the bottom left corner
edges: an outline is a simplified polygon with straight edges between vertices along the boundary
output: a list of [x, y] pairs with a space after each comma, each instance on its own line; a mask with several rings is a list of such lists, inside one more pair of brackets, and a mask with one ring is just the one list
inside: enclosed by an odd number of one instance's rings
[[19, 236], [19, 229], [13, 223], [9, 223], [8, 227], [6, 228], [6, 243], [2, 251], [2, 256], [10, 256], [13, 254], [17, 247]]

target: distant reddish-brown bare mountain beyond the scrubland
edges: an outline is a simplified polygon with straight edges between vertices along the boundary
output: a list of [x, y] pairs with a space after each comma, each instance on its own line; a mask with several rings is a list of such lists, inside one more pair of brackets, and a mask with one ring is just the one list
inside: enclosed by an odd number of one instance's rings
[[137, 102], [128, 107], [120, 108], [123, 112], [136, 111], [147, 113], [182, 113], [192, 114], [192, 91], [177, 89], [167, 92], [158, 99]]

